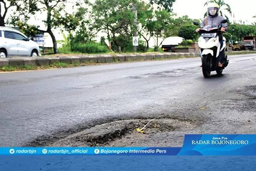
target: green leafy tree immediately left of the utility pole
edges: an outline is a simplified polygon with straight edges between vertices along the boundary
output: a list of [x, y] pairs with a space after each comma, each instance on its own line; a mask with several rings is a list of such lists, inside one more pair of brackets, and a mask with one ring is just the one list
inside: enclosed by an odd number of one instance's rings
[[90, 18], [94, 20], [91, 29], [107, 33], [109, 42], [122, 52], [118, 36], [130, 35], [133, 30], [134, 13], [127, 0], [96, 0], [92, 5]]

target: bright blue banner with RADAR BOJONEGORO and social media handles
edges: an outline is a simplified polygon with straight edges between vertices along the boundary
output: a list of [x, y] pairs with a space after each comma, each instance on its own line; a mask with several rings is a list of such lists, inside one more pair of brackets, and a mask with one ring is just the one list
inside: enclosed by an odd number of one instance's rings
[[256, 135], [185, 135], [182, 147], [1, 147], [0, 155], [256, 155]]

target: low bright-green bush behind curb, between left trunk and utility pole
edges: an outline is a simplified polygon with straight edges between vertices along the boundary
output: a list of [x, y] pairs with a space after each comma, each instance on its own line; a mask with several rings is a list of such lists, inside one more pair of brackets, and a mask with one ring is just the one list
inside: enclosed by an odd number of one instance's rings
[[75, 52], [81, 52], [86, 54], [109, 52], [109, 48], [107, 46], [102, 46], [100, 43], [97, 42], [89, 42], [86, 44], [75, 43], [73, 44], [72, 50]]

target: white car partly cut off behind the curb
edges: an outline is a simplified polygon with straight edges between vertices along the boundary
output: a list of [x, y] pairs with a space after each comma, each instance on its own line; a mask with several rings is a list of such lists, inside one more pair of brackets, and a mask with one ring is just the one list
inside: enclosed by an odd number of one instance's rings
[[0, 27], [0, 58], [13, 56], [41, 56], [39, 44], [14, 28]]

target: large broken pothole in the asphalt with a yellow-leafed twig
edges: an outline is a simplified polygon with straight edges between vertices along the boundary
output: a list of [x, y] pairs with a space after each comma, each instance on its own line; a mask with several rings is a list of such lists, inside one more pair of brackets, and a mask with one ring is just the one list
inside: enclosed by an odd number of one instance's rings
[[[104, 123], [72, 134], [58, 141], [49, 142], [46, 146], [125, 147], [133, 143], [138, 144], [138, 142], [141, 141], [148, 141], [150, 136], [158, 133], [191, 130], [199, 124], [198, 122], [192, 122], [190, 120], [181, 121], [168, 118], [151, 120], [152, 119], [131, 119]], [[143, 128], [145, 125], [146, 128], [143, 133], [136, 130], [137, 128]]]

